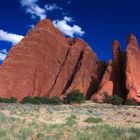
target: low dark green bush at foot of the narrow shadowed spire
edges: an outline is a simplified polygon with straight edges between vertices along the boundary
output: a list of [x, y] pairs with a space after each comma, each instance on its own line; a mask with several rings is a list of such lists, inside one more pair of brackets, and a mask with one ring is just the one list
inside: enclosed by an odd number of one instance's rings
[[107, 94], [105, 95], [105, 103], [109, 103], [112, 105], [121, 105], [123, 103], [123, 99], [121, 97], [119, 97], [118, 95], [114, 95], [114, 96], [107, 96]]

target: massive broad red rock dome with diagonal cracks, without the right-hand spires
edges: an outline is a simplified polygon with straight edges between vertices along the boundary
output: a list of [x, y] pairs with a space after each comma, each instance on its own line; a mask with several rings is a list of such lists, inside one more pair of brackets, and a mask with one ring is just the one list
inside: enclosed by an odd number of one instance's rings
[[0, 97], [61, 96], [78, 89], [97, 89], [102, 72], [91, 47], [65, 38], [45, 19], [14, 46], [0, 67]]

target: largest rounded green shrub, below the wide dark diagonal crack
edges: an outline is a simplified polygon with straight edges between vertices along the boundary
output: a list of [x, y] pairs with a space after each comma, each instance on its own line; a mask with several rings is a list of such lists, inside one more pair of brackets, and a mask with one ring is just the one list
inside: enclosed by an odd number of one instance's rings
[[79, 90], [74, 90], [68, 94], [66, 94], [66, 97], [64, 98], [64, 103], [82, 103], [86, 100], [86, 97], [83, 93], [81, 93]]

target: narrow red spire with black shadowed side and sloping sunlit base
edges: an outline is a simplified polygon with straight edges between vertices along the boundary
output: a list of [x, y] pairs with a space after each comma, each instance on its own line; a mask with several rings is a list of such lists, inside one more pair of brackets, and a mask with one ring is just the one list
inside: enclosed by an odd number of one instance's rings
[[95, 102], [103, 102], [106, 96], [113, 96], [122, 94], [122, 52], [118, 41], [113, 41], [112, 60], [110, 60], [108, 67], [103, 76], [102, 82], [97, 93], [92, 96]]

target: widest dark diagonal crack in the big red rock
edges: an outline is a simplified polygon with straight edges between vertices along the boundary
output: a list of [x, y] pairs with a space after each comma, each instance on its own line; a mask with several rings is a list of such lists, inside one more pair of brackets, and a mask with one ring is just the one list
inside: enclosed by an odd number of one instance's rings
[[67, 91], [67, 89], [71, 86], [71, 84], [72, 84], [72, 82], [74, 80], [74, 77], [75, 77], [77, 71], [81, 67], [81, 60], [83, 59], [83, 55], [84, 55], [84, 51], [81, 51], [81, 53], [79, 55], [79, 58], [78, 58], [78, 60], [76, 62], [75, 68], [73, 69], [72, 75], [70, 76], [69, 80], [67, 81], [67, 84], [64, 87], [64, 89], [62, 91], [62, 94], [65, 94], [65, 92]]

